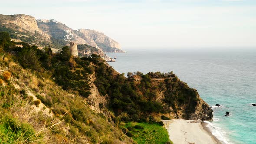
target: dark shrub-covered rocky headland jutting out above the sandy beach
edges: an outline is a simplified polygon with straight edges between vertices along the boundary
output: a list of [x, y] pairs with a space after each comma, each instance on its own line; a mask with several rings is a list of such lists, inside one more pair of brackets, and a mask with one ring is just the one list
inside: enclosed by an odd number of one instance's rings
[[[174, 74], [149, 72], [146, 75], [112, 75], [114, 69], [104, 65], [95, 68], [95, 85], [109, 96], [109, 107], [116, 115], [126, 113], [133, 121], [150, 119], [154, 113], [171, 118], [212, 120], [212, 110], [197, 90], [180, 81]], [[107, 87], [105, 87], [107, 85]]]

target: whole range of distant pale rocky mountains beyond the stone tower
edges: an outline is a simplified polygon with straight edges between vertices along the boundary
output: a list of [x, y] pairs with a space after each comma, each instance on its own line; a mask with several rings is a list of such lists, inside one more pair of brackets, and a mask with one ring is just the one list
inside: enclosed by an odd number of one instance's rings
[[87, 44], [103, 52], [124, 52], [115, 40], [101, 32], [90, 29], [74, 30], [56, 20], [36, 20], [24, 14], [0, 15], [0, 31], [7, 31], [13, 39], [23, 42], [55, 48], [68, 45], [69, 42]]

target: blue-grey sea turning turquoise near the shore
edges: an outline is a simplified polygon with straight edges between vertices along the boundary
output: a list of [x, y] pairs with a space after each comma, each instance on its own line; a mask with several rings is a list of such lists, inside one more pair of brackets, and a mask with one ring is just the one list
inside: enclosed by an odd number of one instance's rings
[[256, 144], [256, 48], [125, 51], [107, 53], [116, 57], [108, 62], [115, 70], [125, 75], [173, 71], [212, 106], [213, 121], [206, 122], [215, 137], [224, 144]]

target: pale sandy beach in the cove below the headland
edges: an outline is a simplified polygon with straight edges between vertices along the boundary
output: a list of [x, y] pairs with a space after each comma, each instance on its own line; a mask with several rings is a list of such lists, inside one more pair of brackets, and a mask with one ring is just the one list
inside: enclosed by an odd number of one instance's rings
[[166, 120], [164, 127], [174, 144], [220, 144], [200, 123], [190, 123], [193, 120]]

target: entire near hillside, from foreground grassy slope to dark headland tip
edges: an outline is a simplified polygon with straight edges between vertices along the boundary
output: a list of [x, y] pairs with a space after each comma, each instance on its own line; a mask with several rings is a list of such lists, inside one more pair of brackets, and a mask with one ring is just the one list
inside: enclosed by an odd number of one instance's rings
[[159, 127], [166, 117], [213, 117], [197, 90], [172, 72], [126, 78], [93, 52], [79, 58], [70, 56], [68, 46], [53, 54], [50, 47], [15, 45], [9, 33], [0, 32], [0, 137], [5, 142], [136, 143], [125, 123]]

